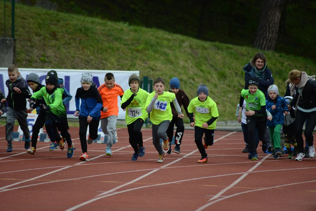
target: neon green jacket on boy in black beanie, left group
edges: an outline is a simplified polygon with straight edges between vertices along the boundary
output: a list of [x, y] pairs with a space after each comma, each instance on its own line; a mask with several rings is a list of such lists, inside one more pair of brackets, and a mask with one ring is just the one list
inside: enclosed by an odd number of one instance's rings
[[46, 86], [44, 86], [39, 91], [33, 93], [30, 99], [35, 101], [43, 97], [46, 106], [50, 108], [46, 113], [53, 113], [57, 115], [58, 118], [64, 118], [67, 117], [67, 114], [63, 104], [63, 92], [63, 89], [57, 88], [54, 93], [50, 95], [46, 92]]

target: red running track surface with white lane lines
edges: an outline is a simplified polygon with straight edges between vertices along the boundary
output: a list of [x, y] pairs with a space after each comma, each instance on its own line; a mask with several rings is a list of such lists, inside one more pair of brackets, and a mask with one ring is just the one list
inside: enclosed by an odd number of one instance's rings
[[[247, 159], [242, 133], [215, 132], [209, 161], [194, 143], [194, 131], [185, 131], [181, 154], [166, 155], [157, 163], [151, 130], [143, 130], [146, 153], [131, 161], [127, 129], [119, 129], [112, 157], [105, 144], [88, 145], [82, 154], [78, 128], [71, 128], [75, 154], [48, 151], [39, 142], [35, 155], [24, 142], [13, 142], [6, 153], [4, 127], [0, 127], [0, 210], [316, 210], [316, 158], [278, 160], [260, 153]], [[23, 152], [23, 153], [21, 153]], [[276, 187], [279, 186], [279, 187]]]

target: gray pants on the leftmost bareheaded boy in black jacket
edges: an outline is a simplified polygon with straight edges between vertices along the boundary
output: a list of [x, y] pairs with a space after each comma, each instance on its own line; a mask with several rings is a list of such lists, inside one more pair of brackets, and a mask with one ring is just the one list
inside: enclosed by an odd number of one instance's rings
[[28, 129], [26, 111], [16, 111], [10, 107], [7, 107], [7, 124], [5, 125], [5, 139], [8, 142], [12, 141], [13, 126], [15, 119], [17, 119], [17, 121], [19, 122], [21, 130], [24, 133], [25, 139], [30, 138], [30, 131]]

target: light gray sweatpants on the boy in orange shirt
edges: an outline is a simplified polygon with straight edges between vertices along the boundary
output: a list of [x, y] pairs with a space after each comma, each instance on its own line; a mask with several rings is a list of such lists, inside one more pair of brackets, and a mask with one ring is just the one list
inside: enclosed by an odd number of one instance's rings
[[116, 122], [118, 117], [115, 115], [108, 116], [106, 118], [100, 119], [101, 122], [101, 130], [104, 134], [107, 135], [107, 144], [106, 148], [110, 148], [113, 146], [113, 140], [115, 138], [116, 132]]

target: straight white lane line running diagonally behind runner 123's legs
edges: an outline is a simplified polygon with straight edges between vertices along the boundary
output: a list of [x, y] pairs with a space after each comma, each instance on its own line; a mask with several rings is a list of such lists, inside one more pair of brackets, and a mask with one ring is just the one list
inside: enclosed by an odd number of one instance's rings
[[[229, 136], [229, 135], [231, 135], [231, 134], [233, 134], [233, 133], [236, 133], [236, 132], [228, 133], [228, 134], [226, 134], [226, 135], [224, 135], [224, 136], [222, 136], [222, 137], [220, 137], [220, 138], [214, 140], [214, 142], [219, 141], [219, 140], [221, 140], [221, 139], [223, 139], [223, 138], [225, 138], [225, 137], [227, 137], [227, 136]], [[189, 155], [191, 155], [191, 154], [193, 154], [193, 153], [195, 153], [195, 152], [197, 152], [197, 151], [198, 151], [198, 149], [197, 149], [197, 150], [194, 150], [193, 152], [191, 152], [191, 153], [189, 153], [189, 154], [184, 155], [184, 156], [181, 157], [181, 158], [178, 158], [177, 160], [175, 160], [175, 161], [173, 161], [173, 162], [171, 162], [171, 163], [169, 163], [169, 164], [163, 165], [163, 166], [160, 167], [160, 169], [161, 169], [161, 168], [164, 168], [164, 167], [167, 167], [167, 166], [169, 166], [169, 165], [171, 165], [171, 164], [173, 164], [173, 163], [175, 163], [175, 162], [178, 162], [179, 160], [181, 160], [181, 159], [183, 159], [183, 158], [185, 158], [185, 157], [187, 157], [187, 156], [189, 156]], [[156, 171], [158, 171], [158, 170], [151, 171], [151, 172], [149, 172], [148, 174], [146, 174], [146, 176], [148, 176], [148, 175], [150, 175], [150, 174], [152, 174], [152, 173], [154, 173], [154, 172], [156, 172]], [[138, 178], [136, 178], [136, 179], [133, 180], [133, 181], [138, 181], [139, 179], [142, 179], [142, 178], [143, 178], [143, 176], [138, 177]], [[126, 185], [132, 184], [133, 181], [131, 181], [131, 182], [129, 182], [129, 183], [122, 184], [122, 185], [120, 185], [120, 186], [118, 186], [118, 187], [119, 187], [119, 188], [122, 188], [122, 187], [124, 187], [124, 186], [126, 186]], [[103, 192], [103, 193], [101, 193], [101, 194], [95, 196], [96, 198], [91, 199], [91, 200], [89, 200], [89, 201], [87, 201], [87, 202], [83, 202], [83, 203], [81, 203], [81, 204], [79, 204], [79, 205], [77, 205], [77, 206], [75, 206], [75, 207], [73, 207], [73, 208], [70, 208], [69, 210], [75, 210], [75, 209], [77, 209], [77, 208], [80, 208], [80, 207], [84, 206], [85, 204], [94, 202], [94, 201], [98, 200], [100, 197], [106, 196], [107, 194], [111, 193], [112, 191], [119, 189], [118, 187], [117, 187], [117, 188], [113, 188], [113, 189], [111, 189], [111, 190], [108, 190], [108, 191], [106, 191], [106, 192]], [[110, 194], [110, 195], [111, 195], [111, 194]], [[68, 211], [68, 210], [67, 210], [67, 211]]]

